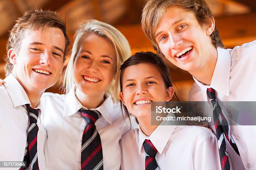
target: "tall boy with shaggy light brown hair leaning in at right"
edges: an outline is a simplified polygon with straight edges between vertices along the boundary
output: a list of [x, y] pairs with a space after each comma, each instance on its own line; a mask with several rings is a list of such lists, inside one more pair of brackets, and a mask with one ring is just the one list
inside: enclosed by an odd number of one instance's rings
[[[221, 101], [256, 101], [256, 41], [225, 49], [204, 0], [149, 0], [141, 25], [159, 54], [193, 76], [189, 100], [212, 101], [213, 111]], [[215, 120], [222, 168], [256, 169], [256, 126]]]

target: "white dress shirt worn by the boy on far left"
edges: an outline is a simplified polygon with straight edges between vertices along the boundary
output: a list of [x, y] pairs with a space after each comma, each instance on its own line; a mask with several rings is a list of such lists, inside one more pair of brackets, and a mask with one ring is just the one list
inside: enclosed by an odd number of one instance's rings
[[[31, 104], [28, 96], [13, 74], [8, 75], [5, 84], [0, 85], [0, 161], [23, 161], [28, 135], [28, 112], [25, 104]], [[40, 109], [40, 103], [36, 109]], [[46, 131], [37, 120], [37, 153], [40, 170], [44, 170], [44, 143]], [[2, 168], [0, 168], [2, 169]], [[6, 168], [3, 168], [6, 169]], [[19, 168], [8, 168], [8, 170]]]

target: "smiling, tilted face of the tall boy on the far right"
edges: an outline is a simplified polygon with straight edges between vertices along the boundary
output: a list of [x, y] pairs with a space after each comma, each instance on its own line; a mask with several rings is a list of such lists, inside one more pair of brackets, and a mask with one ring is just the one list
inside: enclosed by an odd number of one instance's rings
[[192, 12], [180, 7], [167, 8], [156, 29], [155, 40], [164, 56], [188, 72], [200, 72], [214, 56], [210, 35], [214, 20], [202, 27]]

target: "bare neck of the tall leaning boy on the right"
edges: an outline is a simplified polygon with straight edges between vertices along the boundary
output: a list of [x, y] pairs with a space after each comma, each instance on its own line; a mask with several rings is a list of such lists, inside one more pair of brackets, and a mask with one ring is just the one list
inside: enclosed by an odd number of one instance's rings
[[208, 55], [207, 57], [208, 60], [206, 60], [205, 63], [202, 63], [202, 67], [200, 67], [200, 69], [189, 72], [204, 85], [211, 84], [212, 75], [217, 62], [217, 49], [212, 45], [212, 47], [210, 47], [210, 49], [208, 50], [208, 54], [210, 55]]

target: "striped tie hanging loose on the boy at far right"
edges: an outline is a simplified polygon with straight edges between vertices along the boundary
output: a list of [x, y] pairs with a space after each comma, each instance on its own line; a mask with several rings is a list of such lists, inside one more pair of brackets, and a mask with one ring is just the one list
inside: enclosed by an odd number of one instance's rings
[[228, 152], [226, 148], [225, 138], [229, 141], [230, 145], [236, 151], [238, 155], [239, 151], [236, 143], [230, 138], [229, 125], [226, 120], [219, 103], [216, 100], [215, 91], [213, 88], [207, 88], [207, 95], [212, 102], [213, 107], [213, 121], [218, 139], [218, 148], [220, 154], [220, 163], [223, 170], [230, 170], [230, 164], [228, 161]]

